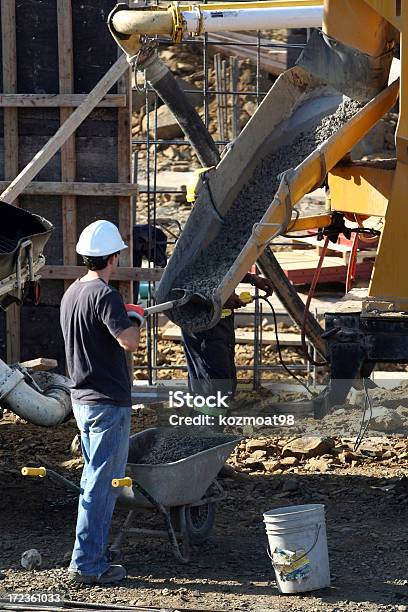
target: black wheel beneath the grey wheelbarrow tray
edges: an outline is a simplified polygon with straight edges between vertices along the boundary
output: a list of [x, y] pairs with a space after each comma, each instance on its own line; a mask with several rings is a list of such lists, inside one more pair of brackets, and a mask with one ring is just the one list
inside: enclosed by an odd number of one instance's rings
[[171, 508], [170, 517], [176, 531], [181, 529], [180, 513], [185, 513], [186, 535], [190, 544], [200, 546], [210, 535], [215, 521], [216, 504], [210, 502], [201, 506], [179, 506]]

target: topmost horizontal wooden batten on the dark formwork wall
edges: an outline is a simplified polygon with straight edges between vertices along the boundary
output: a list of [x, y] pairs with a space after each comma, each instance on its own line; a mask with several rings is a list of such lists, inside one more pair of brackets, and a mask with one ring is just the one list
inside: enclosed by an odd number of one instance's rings
[[[0, 94], [2, 108], [76, 108], [85, 100], [86, 94]], [[126, 96], [107, 94], [98, 108], [126, 107]]]

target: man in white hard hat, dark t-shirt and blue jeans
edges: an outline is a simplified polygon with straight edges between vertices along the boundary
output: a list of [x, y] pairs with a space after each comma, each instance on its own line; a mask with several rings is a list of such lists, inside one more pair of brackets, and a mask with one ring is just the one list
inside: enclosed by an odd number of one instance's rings
[[[108, 284], [126, 248], [113, 223], [88, 225], [76, 246], [88, 273], [69, 287], [61, 302], [72, 405], [85, 462], [68, 573], [85, 584], [126, 577], [125, 568], [110, 565], [107, 557], [117, 497], [112, 478], [124, 476], [129, 448], [131, 381], [125, 351], [136, 351], [139, 344], [139, 327]], [[140, 325], [142, 314], [134, 320]]]

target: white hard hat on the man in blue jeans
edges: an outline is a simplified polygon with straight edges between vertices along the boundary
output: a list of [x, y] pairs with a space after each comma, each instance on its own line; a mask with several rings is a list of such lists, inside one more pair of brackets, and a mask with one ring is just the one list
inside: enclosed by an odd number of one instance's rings
[[76, 252], [86, 257], [105, 257], [127, 249], [116, 225], [110, 221], [94, 221], [81, 233]]

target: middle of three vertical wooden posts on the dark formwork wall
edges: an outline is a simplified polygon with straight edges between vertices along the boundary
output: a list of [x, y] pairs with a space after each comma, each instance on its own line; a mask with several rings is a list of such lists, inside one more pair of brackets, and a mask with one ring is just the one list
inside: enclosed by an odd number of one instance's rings
[[[58, 0], [58, 64], [59, 89], [61, 94], [74, 93], [74, 58], [72, 40], [72, 5], [71, 0]], [[63, 124], [72, 114], [69, 108], [60, 108], [60, 119]], [[70, 136], [61, 147], [61, 180], [75, 181], [76, 178], [76, 152], [75, 136]], [[77, 211], [76, 197], [65, 195], [62, 197], [62, 236], [63, 261], [66, 266], [76, 264], [75, 245], [77, 242]], [[67, 289], [69, 281], [64, 282]]]

